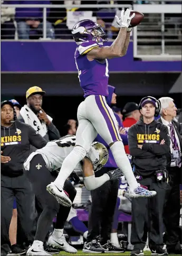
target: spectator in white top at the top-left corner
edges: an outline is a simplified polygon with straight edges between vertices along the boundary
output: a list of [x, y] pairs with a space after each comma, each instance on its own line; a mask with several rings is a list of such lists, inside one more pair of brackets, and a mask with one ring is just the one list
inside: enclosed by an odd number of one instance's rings
[[1, 1], [1, 39], [15, 39], [14, 7], [4, 7]]

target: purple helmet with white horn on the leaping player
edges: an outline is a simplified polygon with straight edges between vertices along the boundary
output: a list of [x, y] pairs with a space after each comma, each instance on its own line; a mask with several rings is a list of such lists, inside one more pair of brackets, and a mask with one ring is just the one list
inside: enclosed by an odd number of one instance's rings
[[72, 35], [76, 43], [85, 41], [107, 42], [107, 34], [102, 27], [92, 20], [77, 22], [72, 29]]

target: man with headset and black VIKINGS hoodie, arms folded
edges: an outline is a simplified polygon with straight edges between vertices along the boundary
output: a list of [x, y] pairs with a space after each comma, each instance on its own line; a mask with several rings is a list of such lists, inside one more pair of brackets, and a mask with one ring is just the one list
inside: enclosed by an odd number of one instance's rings
[[[165, 125], [154, 120], [160, 111], [157, 99], [145, 97], [139, 105], [142, 121], [132, 125], [128, 132], [129, 150], [132, 156], [133, 171], [138, 182], [155, 190], [157, 195], [132, 199], [131, 255], [144, 255], [143, 228], [148, 223], [149, 248], [151, 255], [166, 255], [162, 250], [162, 209], [166, 189], [166, 153], [170, 139]], [[149, 220], [147, 220], [149, 218]]]

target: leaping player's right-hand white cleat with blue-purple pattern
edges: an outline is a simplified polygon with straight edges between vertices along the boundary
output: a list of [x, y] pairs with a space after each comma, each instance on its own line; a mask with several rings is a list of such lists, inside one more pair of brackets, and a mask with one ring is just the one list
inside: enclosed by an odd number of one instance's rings
[[138, 198], [138, 197], [152, 197], [152, 196], [155, 196], [156, 194], [157, 194], [156, 191], [149, 191], [147, 187], [138, 186], [134, 190], [131, 190], [130, 188], [128, 188], [124, 196], [126, 196], [127, 198]]

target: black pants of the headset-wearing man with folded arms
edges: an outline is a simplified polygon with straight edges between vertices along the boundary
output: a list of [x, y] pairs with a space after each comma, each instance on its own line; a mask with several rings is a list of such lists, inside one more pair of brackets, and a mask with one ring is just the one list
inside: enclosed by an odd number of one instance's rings
[[149, 248], [163, 246], [163, 207], [165, 202], [166, 184], [155, 181], [155, 177], [139, 180], [143, 186], [155, 190], [157, 195], [151, 198], [133, 198], [131, 203], [132, 228], [131, 243], [134, 249], [143, 249], [146, 239], [143, 239], [144, 227], [148, 224]]

